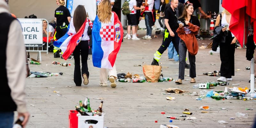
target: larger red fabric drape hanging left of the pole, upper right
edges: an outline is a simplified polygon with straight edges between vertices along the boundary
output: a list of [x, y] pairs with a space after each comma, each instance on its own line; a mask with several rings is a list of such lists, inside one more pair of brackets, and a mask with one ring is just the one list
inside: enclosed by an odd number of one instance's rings
[[[236, 36], [237, 40], [243, 47], [243, 41], [247, 39], [248, 24], [246, 24], [245, 6], [247, 0], [234, 2], [233, 0], [223, 0], [222, 7], [231, 13], [229, 30]], [[248, 20], [247, 20], [248, 21]], [[245, 26], [244, 26], [245, 22]], [[244, 33], [245, 28], [245, 33]]]

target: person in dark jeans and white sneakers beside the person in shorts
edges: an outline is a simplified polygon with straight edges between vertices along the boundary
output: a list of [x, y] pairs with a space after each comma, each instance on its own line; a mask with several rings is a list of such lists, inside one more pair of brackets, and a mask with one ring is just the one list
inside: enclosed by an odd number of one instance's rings
[[143, 39], [152, 39], [151, 34], [152, 34], [152, 26], [155, 24], [154, 16], [153, 16], [153, 6], [154, 6], [154, 0], [145, 0], [145, 10], [144, 10], [144, 15], [145, 15], [145, 24], [147, 28], [147, 34], [143, 36]]

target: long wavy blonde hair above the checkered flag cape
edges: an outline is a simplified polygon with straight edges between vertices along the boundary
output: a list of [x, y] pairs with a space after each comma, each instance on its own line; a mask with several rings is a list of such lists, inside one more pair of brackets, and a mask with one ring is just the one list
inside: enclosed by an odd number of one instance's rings
[[103, 0], [100, 2], [99, 8], [98, 8], [98, 17], [99, 20], [102, 23], [109, 23], [111, 18], [112, 12], [111, 12], [111, 4], [109, 0]]

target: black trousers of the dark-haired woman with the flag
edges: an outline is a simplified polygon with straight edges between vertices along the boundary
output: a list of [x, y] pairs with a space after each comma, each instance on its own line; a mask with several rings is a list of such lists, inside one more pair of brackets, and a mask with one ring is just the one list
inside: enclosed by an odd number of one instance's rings
[[[89, 78], [89, 71], [87, 66], [87, 58], [89, 52], [89, 44], [88, 40], [81, 41], [75, 48], [73, 55], [75, 60], [75, 70], [74, 70], [74, 82], [77, 86], [81, 86], [83, 74], [86, 74]], [[82, 70], [80, 69], [80, 55], [81, 55], [81, 62], [82, 62]], [[81, 74], [82, 71], [82, 74]]]

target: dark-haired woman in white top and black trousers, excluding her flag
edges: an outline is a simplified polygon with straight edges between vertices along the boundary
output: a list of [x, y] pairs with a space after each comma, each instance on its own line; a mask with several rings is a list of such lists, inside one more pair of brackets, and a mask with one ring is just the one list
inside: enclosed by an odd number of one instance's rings
[[[86, 18], [86, 11], [83, 5], [78, 5], [74, 12], [74, 17], [70, 21], [70, 28], [68, 30], [69, 35], [75, 35], [79, 29], [82, 28], [82, 25], [85, 22], [84, 33], [82, 38], [80, 39], [80, 43], [76, 45], [75, 50], [73, 51], [74, 60], [75, 60], [75, 70], [74, 70], [74, 82], [76, 86], [81, 86], [82, 79], [81, 75], [84, 78], [84, 85], [89, 83], [89, 71], [87, 66], [87, 58], [89, 52], [89, 40], [88, 36], [88, 27], [92, 28], [92, 22]], [[82, 70], [80, 69], [80, 55], [82, 62]], [[82, 74], [81, 74], [82, 71]]]

